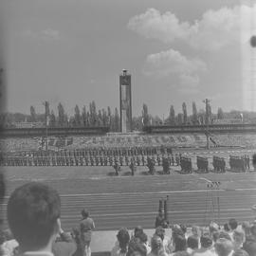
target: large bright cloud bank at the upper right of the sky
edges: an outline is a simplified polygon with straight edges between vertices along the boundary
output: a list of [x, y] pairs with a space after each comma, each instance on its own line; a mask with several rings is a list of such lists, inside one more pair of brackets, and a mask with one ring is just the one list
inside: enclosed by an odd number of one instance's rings
[[[218, 50], [240, 42], [244, 20], [255, 17], [256, 4], [218, 10], [207, 10], [193, 23], [181, 22], [171, 11], [163, 14], [157, 9], [147, 9], [132, 17], [128, 28], [146, 38], [170, 44], [180, 40], [196, 49]], [[249, 26], [249, 25], [248, 25]]]

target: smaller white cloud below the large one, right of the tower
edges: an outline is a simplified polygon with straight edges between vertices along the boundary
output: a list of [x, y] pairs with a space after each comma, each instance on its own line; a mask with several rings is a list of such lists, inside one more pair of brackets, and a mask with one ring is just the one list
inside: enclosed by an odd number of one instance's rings
[[206, 64], [199, 59], [188, 59], [180, 52], [170, 49], [147, 57], [144, 74], [164, 78], [174, 76], [179, 81], [182, 92], [195, 92], [199, 85], [198, 73], [207, 70]]

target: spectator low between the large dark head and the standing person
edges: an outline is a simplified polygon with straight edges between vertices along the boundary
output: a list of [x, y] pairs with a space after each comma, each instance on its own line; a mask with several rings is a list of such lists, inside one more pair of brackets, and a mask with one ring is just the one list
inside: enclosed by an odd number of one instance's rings
[[52, 245], [54, 256], [71, 256], [77, 250], [77, 245], [71, 235], [65, 233], [63, 229]]

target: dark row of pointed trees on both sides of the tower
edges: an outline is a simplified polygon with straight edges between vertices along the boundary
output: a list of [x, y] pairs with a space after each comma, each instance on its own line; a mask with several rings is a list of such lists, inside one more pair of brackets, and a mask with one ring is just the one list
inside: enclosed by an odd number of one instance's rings
[[[111, 132], [119, 132], [120, 117], [119, 110], [116, 107], [114, 111], [108, 106], [106, 109], [98, 109], [95, 101], [89, 102], [88, 107], [78, 105], [74, 107], [74, 114], [68, 116], [64, 110], [64, 105], [60, 102], [57, 106], [57, 112], [50, 107], [49, 102], [45, 102], [45, 113], [37, 113], [34, 106], [30, 106], [30, 115], [21, 113], [2, 113], [0, 123], [2, 126], [11, 127], [15, 122], [41, 122], [48, 127], [96, 127], [108, 126]], [[256, 120], [256, 113], [243, 112], [244, 119]], [[206, 104], [205, 109], [197, 110], [196, 103], [192, 101], [192, 115], [188, 114], [186, 102], [182, 103], [182, 112], [175, 113], [174, 105], [170, 106], [168, 117], [159, 118], [150, 114], [147, 104], [143, 103], [141, 115], [133, 117], [133, 130], [141, 131], [144, 125], [200, 125], [212, 123], [214, 119], [239, 119], [241, 112], [230, 111], [224, 113], [221, 107], [217, 113], [211, 112], [210, 103]]]

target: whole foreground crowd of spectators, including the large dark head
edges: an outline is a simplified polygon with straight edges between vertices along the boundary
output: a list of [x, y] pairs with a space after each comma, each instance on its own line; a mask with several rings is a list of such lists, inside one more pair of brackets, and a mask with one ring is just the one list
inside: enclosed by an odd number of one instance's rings
[[[61, 226], [58, 192], [43, 183], [30, 182], [11, 193], [8, 202], [9, 230], [0, 232], [0, 255], [83, 256], [91, 255], [90, 241], [94, 221], [86, 210], [71, 233]], [[166, 234], [171, 231], [171, 236]], [[229, 219], [224, 227], [184, 225], [168, 227], [155, 222], [155, 233], [148, 237], [142, 227], [132, 233], [121, 228], [111, 256], [255, 256], [256, 223], [238, 224]]]

